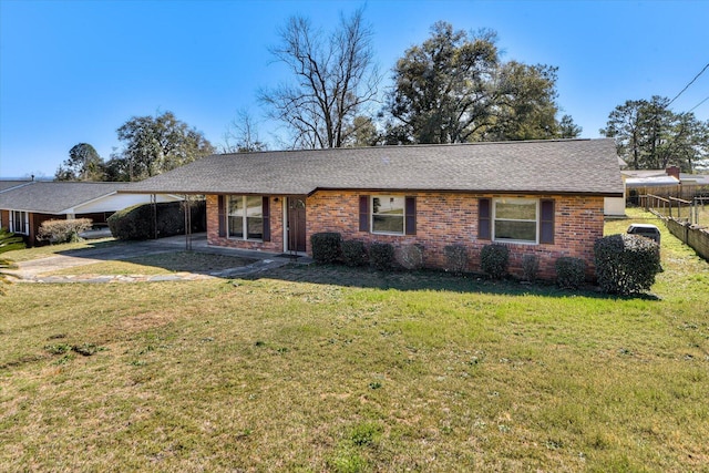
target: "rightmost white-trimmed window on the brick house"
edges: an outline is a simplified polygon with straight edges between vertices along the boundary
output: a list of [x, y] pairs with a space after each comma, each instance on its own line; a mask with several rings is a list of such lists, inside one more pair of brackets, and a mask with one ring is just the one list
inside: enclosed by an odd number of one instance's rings
[[540, 202], [535, 198], [493, 199], [495, 241], [538, 243]]

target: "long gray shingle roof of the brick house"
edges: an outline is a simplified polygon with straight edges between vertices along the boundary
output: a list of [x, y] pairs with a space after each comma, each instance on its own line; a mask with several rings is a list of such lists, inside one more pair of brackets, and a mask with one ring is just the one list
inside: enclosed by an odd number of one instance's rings
[[620, 196], [613, 140], [376, 146], [213, 155], [129, 192], [310, 194], [317, 189]]

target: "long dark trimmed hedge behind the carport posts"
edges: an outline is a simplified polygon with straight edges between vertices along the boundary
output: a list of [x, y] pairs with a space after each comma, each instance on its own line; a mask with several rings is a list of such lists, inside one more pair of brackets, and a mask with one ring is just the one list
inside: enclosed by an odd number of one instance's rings
[[[151, 239], [185, 234], [185, 203], [169, 202], [155, 205], [138, 204], [119, 210], [109, 217], [109, 228], [119, 239]], [[192, 232], [204, 232], [206, 213], [204, 200], [191, 202]]]

